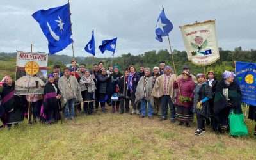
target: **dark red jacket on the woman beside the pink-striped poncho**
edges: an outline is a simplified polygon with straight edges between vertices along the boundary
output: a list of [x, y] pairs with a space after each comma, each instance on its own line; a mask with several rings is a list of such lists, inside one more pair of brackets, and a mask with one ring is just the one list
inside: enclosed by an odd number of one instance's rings
[[189, 97], [193, 100], [193, 90], [195, 88], [195, 83], [192, 81], [191, 77], [189, 77], [186, 81], [184, 79], [179, 79], [180, 92], [178, 88], [178, 83], [175, 81], [173, 83], [173, 89], [177, 89], [176, 103], [178, 106], [191, 107], [192, 101], [190, 102], [182, 102], [180, 104], [179, 97], [180, 94], [183, 97]]

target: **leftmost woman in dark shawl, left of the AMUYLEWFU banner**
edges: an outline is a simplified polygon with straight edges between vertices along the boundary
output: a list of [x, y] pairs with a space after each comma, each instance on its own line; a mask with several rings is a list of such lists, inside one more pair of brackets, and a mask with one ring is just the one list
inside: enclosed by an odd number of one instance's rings
[[7, 124], [8, 130], [11, 129], [12, 124], [17, 125], [24, 120], [24, 108], [22, 107], [22, 99], [17, 95], [14, 95], [15, 83], [12, 81], [12, 77], [5, 76], [3, 80], [3, 91], [1, 93], [2, 102], [6, 117], [2, 120], [4, 124]]

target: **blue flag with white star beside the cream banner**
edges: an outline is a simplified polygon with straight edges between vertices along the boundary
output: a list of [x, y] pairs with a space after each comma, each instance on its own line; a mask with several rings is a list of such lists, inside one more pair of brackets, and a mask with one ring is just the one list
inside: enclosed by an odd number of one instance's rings
[[162, 12], [160, 13], [158, 19], [157, 19], [157, 24], [156, 24], [156, 40], [163, 42], [162, 36], [168, 36], [168, 33], [172, 31], [173, 25], [170, 20], [168, 20], [164, 14], [164, 8]]

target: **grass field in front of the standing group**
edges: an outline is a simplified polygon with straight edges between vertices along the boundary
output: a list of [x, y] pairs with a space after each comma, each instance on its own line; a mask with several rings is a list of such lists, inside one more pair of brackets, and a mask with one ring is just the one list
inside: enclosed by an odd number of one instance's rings
[[124, 113], [81, 115], [76, 121], [0, 130], [0, 159], [256, 159], [255, 122], [232, 138]]

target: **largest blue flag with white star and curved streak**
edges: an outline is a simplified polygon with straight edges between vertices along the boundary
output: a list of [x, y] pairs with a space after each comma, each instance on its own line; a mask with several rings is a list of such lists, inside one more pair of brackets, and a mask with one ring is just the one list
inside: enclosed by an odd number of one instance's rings
[[65, 4], [49, 10], [39, 10], [32, 15], [49, 42], [48, 49], [51, 55], [62, 51], [72, 43], [68, 7], [69, 4]]

